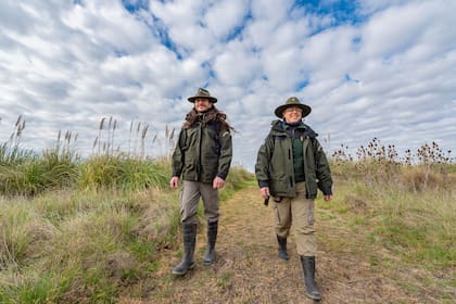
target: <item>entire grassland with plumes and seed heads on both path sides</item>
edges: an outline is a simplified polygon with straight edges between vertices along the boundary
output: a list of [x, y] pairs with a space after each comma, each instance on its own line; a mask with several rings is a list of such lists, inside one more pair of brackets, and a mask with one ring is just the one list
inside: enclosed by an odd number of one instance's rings
[[[107, 138], [114, 137], [114, 126], [110, 123]], [[18, 121], [15, 134], [0, 147], [0, 303], [167, 303], [155, 287], [165, 286], [168, 295], [180, 292], [181, 282], [166, 275], [169, 250], [179, 249], [178, 191], [168, 190], [168, 159], [114, 151], [109, 142], [100, 148], [97, 139], [94, 153], [83, 160], [71, 149], [71, 134], [59, 137], [54, 149], [36, 153], [21, 149], [22, 131]], [[141, 138], [144, 130], [139, 132]], [[380, 278], [393, 278], [398, 303], [452, 303], [456, 167], [449, 153], [431, 143], [401, 157], [378, 139], [360, 147], [356, 160], [343, 149], [335, 151], [330, 157], [334, 199], [317, 201], [317, 220], [330, 226], [318, 235], [325, 252], [365, 258], [363, 265], [377, 269]], [[243, 193], [255, 204], [253, 175], [235, 167], [221, 200], [246, 189]], [[255, 217], [255, 208], [242, 210], [240, 218]], [[236, 220], [233, 229], [249, 225]], [[226, 254], [233, 248], [249, 252], [240, 240], [228, 240], [236, 243]], [[421, 281], [395, 269], [414, 269]], [[371, 278], [370, 270], [358, 275]], [[226, 287], [233, 273], [205, 276], [221, 276]], [[241, 299], [249, 303], [249, 296]], [[344, 296], [350, 302], [353, 295]]]

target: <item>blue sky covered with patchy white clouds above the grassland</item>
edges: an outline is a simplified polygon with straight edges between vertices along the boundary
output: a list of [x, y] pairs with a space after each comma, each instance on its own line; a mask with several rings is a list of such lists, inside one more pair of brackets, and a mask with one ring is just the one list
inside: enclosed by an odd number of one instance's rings
[[249, 170], [292, 96], [328, 155], [378, 138], [454, 156], [454, 0], [3, 0], [0, 142], [21, 116], [24, 149], [67, 132], [81, 155], [166, 155], [202, 87]]

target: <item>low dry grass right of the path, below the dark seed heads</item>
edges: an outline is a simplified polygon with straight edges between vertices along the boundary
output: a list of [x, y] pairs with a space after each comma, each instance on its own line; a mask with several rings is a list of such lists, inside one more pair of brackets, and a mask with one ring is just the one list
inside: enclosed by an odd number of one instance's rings
[[[335, 178], [334, 199], [320, 207], [337, 212], [350, 223], [353, 233], [363, 231], [364, 251], [370, 245], [380, 246], [404, 264], [420, 265], [430, 270], [446, 271], [454, 267], [454, 187], [442, 188], [442, 181], [433, 177], [428, 178], [426, 190], [416, 191], [404, 189], [404, 185], [411, 182], [369, 185], [358, 179], [341, 181]], [[425, 182], [420, 180], [417, 185]], [[339, 244], [340, 240], [334, 242]], [[375, 263], [383, 262], [376, 259]]]

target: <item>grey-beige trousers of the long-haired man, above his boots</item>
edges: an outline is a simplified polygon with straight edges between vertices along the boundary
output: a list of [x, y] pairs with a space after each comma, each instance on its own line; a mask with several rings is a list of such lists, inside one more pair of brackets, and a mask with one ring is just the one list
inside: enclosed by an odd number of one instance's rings
[[203, 199], [204, 216], [207, 221], [218, 220], [218, 190], [212, 183], [183, 180], [180, 192], [180, 223], [198, 224], [198, 204]]

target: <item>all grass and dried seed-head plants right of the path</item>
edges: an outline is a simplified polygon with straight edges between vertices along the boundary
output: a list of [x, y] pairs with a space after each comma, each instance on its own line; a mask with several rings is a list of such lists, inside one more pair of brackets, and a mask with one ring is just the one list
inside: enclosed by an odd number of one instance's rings
[[331, 168], [344, 192], [332, 208], [410, 264], [454, 267], [456, 166], [449, 154], [433, 142], [400, 157], [377, 138], [357, 150], [356, 161], [339, 150]]

